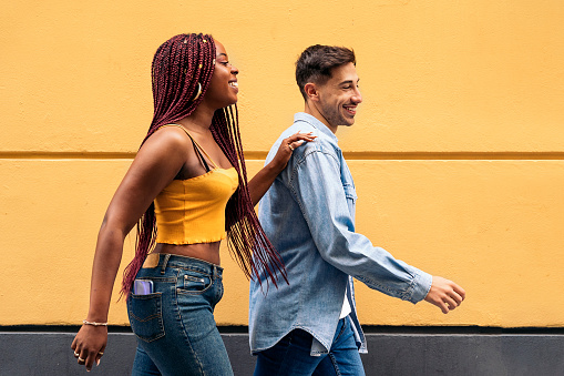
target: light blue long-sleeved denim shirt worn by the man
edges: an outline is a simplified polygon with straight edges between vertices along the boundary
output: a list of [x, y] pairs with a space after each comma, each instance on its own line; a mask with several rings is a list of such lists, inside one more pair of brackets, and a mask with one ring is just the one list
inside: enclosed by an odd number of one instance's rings
[[289, 285], [250, 282], [252, 353], [274, 346], [295, 328], [314, 336], [311, 355], [329, 352], [347, 296], [360, 353], [366, 341], [357, 317], [352, 277], [370, 288], [411, 303], [424, 298], [431, 275], [392, 257], [355, 232], [357, 194], [337, 136], [320, 121], [297, 113], [268, 153], [298, 132], [317, 139], [296, 148], [286, 169], [260, 201], [258, 215], [286, 265]]

